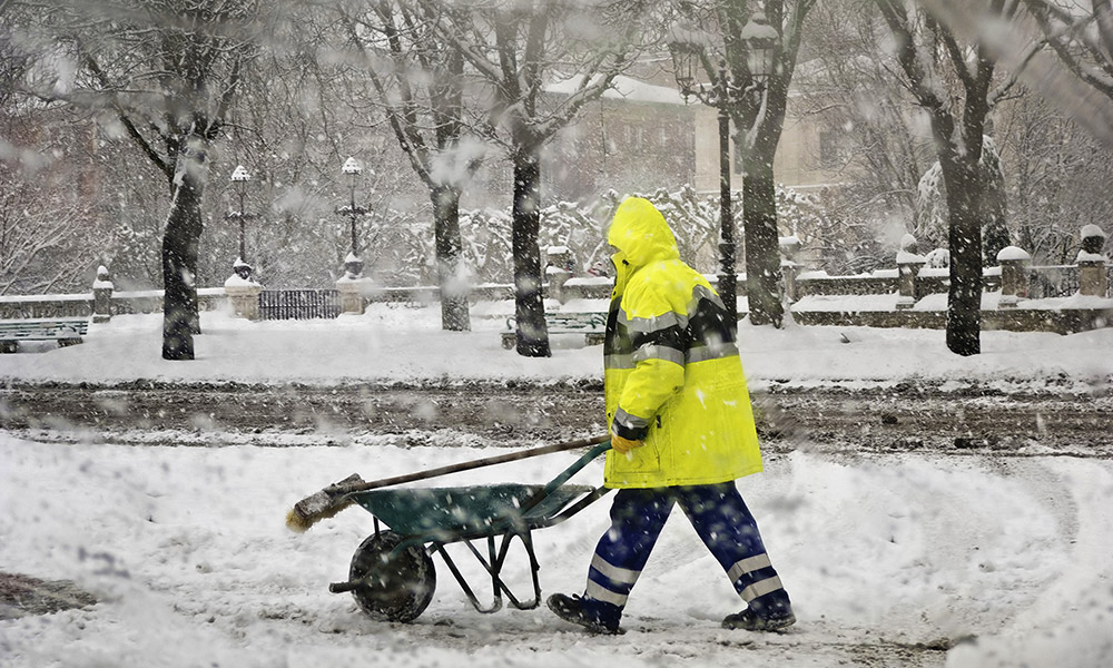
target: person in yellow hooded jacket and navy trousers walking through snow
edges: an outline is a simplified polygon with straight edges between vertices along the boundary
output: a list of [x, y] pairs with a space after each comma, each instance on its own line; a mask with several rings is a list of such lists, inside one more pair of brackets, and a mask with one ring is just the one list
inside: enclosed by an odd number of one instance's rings
[[549, 608], [599, 633], [620, 633], [627, 598], [673, 504], [746, 602], [728, 629], [776, 631], [796, 622], [735, 480], [761, 471], [738, 346], [737, 315], [681, 262], [664, 216], [647, 199], [622, 202], [608, 243], [618, 272], [603, 345], [612, 450], [604, 487], [617, 489], [583, 596]]

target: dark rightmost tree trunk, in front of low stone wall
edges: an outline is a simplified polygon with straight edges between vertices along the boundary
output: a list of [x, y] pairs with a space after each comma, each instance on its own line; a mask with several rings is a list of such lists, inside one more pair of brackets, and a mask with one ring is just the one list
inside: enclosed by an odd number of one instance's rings
[[982, 352], [982, 179], [977, 165], [942, 160], [951, 214], [951, 291], [947, 347], [957, 355]]

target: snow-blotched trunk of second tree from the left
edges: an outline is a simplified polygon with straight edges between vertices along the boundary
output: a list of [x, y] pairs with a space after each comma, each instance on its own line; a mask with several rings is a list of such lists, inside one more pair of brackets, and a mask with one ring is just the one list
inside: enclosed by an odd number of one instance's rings
[[467, 332], [470, 285], [460, 272], [460, 189], [442, 186], [430, 190], [433, 200], [433, 228], [436, 239], [436, 272], [441, 285], [441, 328]]

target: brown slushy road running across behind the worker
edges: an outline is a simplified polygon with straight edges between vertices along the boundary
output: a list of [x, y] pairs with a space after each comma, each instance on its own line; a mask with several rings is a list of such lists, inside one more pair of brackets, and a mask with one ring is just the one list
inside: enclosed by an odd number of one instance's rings
[[[1006, 392], [929, 382], [850, 389], [770, 384], [752, 393], [768, 449], [997, 451], [1113, 456], [1113, 393]], [[0, 389], [0, 428], [56, 438], [190, 442], [238, 434], [344, 442], [393, 434], [413, 444], [516, 446], [603, 431], [602, 385], [447, 382], [309, 386], [10, 384]], [[138, 434], [141, 434], [139, 436]], [[155, 434], [155, 435], [152, 435]], [[221, 436], [223, 435], [223, 436]], [[154, 441], [152, 441], [154, 439]], [[208, 443], [218, 444], [218, 443]]]

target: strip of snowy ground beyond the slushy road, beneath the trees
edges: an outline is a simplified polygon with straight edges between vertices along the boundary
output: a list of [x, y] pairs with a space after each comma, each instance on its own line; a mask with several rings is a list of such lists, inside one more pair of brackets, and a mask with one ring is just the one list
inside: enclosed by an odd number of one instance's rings
[[[598, 308], [605, 308], [592, 304]], [[117, 316], [93, 325], [81, 345], [49, 354], [0, 356], [0, 381], [126, 382], [136, 379], [262, 383], [349, 381], [509, 380], [601, 377], [599, 347], [582, 336], [560, 335], [549, 358], [502, 350], [511, 303], [472, 310], [471, 332], [440, 330], [439, 307], [375, 304], [363, 316], [335, 321], [249, 323], [224, 312], [201, 314], [197, 360], [159, 357], [161, 317]], [[739, 348], [751, 384], [908, 379], [966, 383], [1015, 381], [1085, 387], [1113, 381], [1113, 327], [1061, 336], [1052, 333], [983, 332], [982, 354], [947, 351], [943, 332], [867, 327], [784, 330], [741, 325]]]

